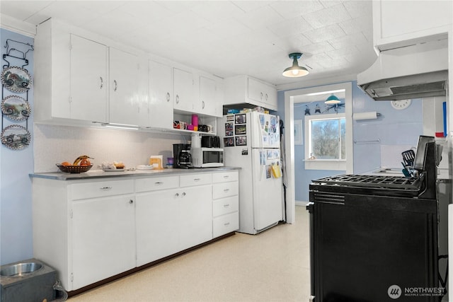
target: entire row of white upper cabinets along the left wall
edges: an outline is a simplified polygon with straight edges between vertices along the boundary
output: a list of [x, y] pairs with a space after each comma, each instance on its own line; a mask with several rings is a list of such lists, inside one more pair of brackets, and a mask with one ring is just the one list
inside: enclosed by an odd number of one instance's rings
[[175, 114], [222, 116], [223, 79], [52, 19], [37, 28], [35, 78], [35, 122], [173, 129]]

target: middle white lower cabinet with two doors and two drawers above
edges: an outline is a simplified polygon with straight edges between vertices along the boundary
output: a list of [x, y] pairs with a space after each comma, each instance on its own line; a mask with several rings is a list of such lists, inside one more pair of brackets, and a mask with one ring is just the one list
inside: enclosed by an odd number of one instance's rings
[[212, 239], [210, 183], [209, 173], [137, 180], [137, 266]]

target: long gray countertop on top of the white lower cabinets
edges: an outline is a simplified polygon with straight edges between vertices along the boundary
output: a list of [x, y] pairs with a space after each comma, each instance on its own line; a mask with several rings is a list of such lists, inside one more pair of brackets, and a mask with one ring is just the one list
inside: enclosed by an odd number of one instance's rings
[[240, 170], [240, 167], [220, 167], [220, 168], [193, 168], [193, 169], [163, 169], [163, 170], [133, 170], [122, 172], [105, 172], [103, 170], [89, 170], [85, 173], [64, 173], [64, 172], [45, 172], [30, 173], [30, 178], [45, 178], [49, 180], [87, 180], [94, 178], [122, 178], [137, 176], [158, 176], [158, 175], [184, 175], [191, 173], [212, 173], [226, 172], [229, 170]]

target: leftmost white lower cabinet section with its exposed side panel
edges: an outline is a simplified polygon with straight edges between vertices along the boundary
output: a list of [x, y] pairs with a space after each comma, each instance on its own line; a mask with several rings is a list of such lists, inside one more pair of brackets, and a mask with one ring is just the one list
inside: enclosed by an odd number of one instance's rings
[[74, 291], [135, 267], [134, 180], [33, 178], [33, 257]]

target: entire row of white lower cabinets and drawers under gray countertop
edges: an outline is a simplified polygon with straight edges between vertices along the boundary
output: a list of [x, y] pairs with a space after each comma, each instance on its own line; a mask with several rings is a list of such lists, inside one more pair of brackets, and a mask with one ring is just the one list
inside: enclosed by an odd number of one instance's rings
[[34, 257], [75, 291], [239, 228], [238, 172], [33, 178]]

